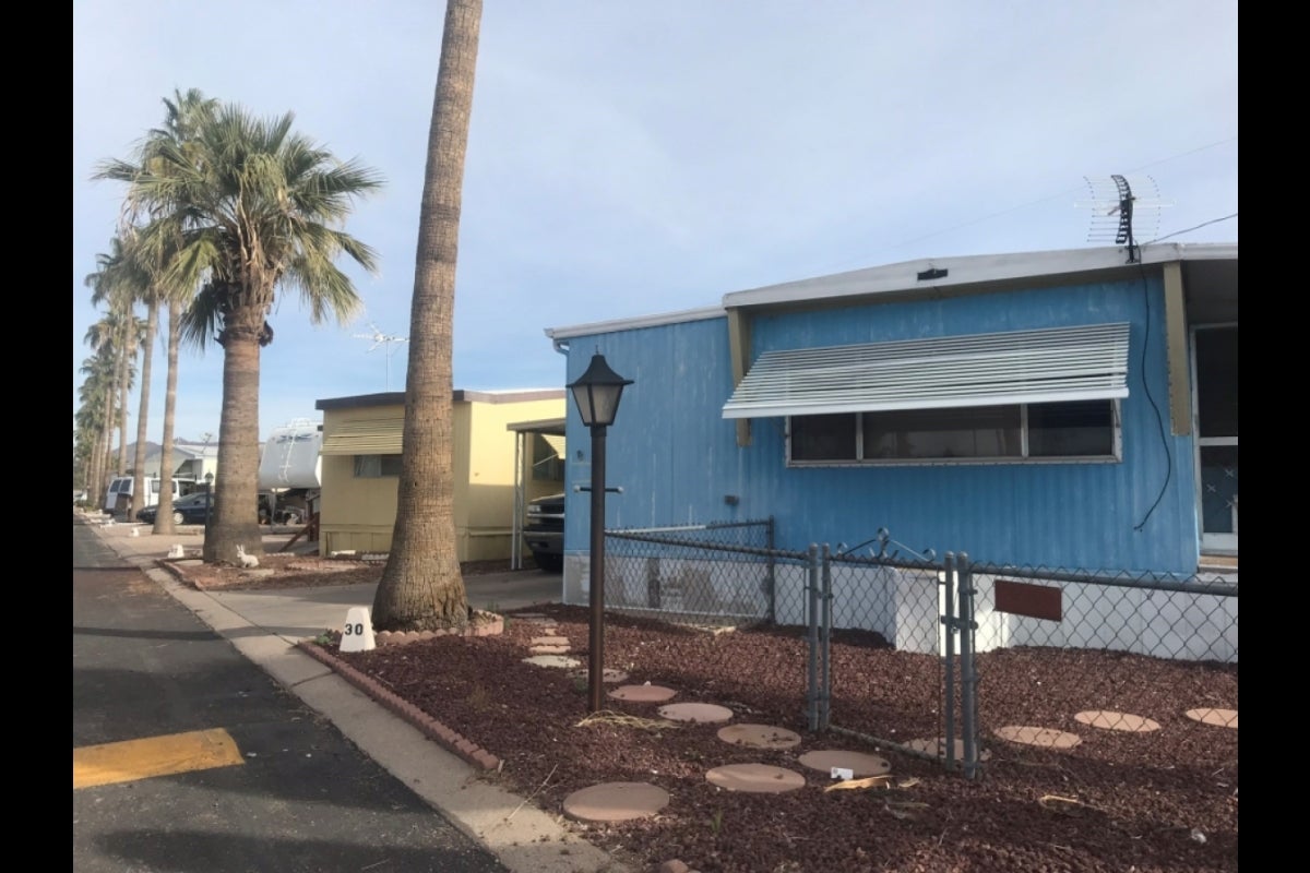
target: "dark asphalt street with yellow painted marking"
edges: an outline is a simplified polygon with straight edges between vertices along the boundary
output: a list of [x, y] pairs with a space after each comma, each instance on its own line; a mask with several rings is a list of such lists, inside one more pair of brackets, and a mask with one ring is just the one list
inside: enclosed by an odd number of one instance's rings
[[79, 525], [73, 869], [506, 870]]

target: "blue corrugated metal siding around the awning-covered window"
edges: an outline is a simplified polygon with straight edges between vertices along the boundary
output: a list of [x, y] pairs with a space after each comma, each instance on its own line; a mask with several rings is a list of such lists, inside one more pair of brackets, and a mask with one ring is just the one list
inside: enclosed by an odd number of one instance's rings
[[[977, 560], [1192, 572], [1199, 552], [1192, 444], [1169, 436], [1155, 418], [1154, 407], [1167, 415], [1169, 397], [1163, 304], [1158, 279], [1148, 287], [1106, 283], [787, 313], [758, 317], [753, 326], [758, 356], [810, 346], [1129, 322], [1121, 463], [789, 469], [783, 419], [752, 421], [747, 448], [738, 448], [735, 424], [722, 419], [732, 394], [726, 319], [575, 338], [567, 381], [582, 374], [597, 348], [616, 372], [634, 380], [609, 429], [608, 484], [624, 493], [608, 496], [605, 524], [773, 516], [778, 544], [787, 548], [854, 546], [887, 527], [914, 550], [967, 551]], [[567, 428], [565, 546], [586, 551], [588, 495], [571, 487], [590, 480], [591, 450], [572, 406]], [[727, 495], [739, 503], [726, 504]]]

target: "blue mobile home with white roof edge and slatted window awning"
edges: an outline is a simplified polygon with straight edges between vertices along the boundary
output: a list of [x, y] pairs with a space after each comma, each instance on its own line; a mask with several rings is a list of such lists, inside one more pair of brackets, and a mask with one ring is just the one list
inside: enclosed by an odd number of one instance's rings
[[[576, 380], [633, 380], [607, 527], [772, 517], [859, 543], [1047, 568], [1193, 573], [1237, 555], [1237, 245], [914, 260], [548, 330]], [[565, 597], [590, 440], [567, 418]]]

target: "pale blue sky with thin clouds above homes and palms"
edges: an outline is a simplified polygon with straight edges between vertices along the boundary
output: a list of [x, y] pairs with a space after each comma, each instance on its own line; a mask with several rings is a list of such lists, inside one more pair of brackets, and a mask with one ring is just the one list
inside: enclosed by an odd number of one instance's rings
[[[88, 274], [164, 98], [198, 88], [386, 179], [346, 230], [363, 312], [279, 296], [259, 436], [401, 391], [445, 4], [73, 0], [73, 411]], [[455, 387], [561, 387], [545, 331], [918, 258], [1089, 245], [1087, 179], [1136, 238], [1237, 242], [1237, 0], [487, 0], [465, 165]], [[1154, 190], [1151, 190], [1154, 186]], [[162, 435], [164, 339], [151, 441]], [[221, 349], [183, 347], [176, 436], [216, 438]], [[139, 387], [138, 387], [139, 390]], [[139, 394], [128, 401], [135, 440]]]

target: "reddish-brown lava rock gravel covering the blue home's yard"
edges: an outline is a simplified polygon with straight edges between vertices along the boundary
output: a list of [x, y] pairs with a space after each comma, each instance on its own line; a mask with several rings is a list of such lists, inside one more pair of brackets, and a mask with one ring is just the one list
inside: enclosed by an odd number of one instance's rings
[[[534, 611], [586, 658], [588, 610]], [[810, 733], [799, 628], [713, 635], [609, 614], [605, 631], [607, 666], [626, 670], [630, 682], [676, 688], [673, 702], [728, 707], [735, 722], [800, 734], [789, 749], [726, 743], [717, 737], [722, 724], [669, 724], [658, 703], [609, 700], [612, 715], [579, 726], [588, 715], [586, 679], [523, 662], [541, 635], [538, 622], [510, 613], [495, 636], [356, 653], [328, 645], [322, 654], [476, 743], [499, 767], [483, 779], [531, 794], [548, 811], [561, 813], [569, 794], [599, 783], [667, 791], [668, 806], [650, 818], [574, 825], [639, 870], [673, 859], [702, 873], [1238, 869], [1237, 730], [1184, 715], [1235, 711], [1235, 665], [1039, 648], [980, 654], [981, 739], [990, 757], [981, 779], [969, 781], [931, 760]], [[871, 633], [836, 633], [832, 664], [833, 724], [904, 741], [941, 736], [937, 658], [895, 652]], [[1159, 729], [1076, 720], [1094, 709], [1136, 713]], [[1006, 725], [1068, 732], [1081, 742], [1061, 750], [1006, 742], [992, 733]], [[834, 747], [878, 754], [891, 772], [869, 788], [825, 792], [829, 774], [799, 758]], [[794, 770], [806, 784], [756, 794], [705, 777], [741, 763]]]

